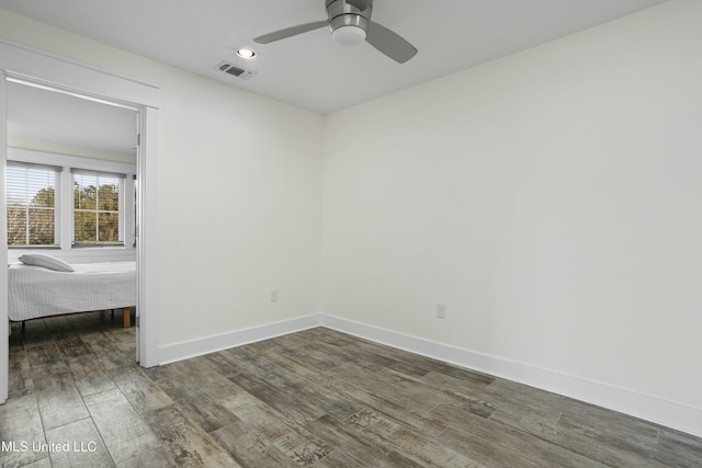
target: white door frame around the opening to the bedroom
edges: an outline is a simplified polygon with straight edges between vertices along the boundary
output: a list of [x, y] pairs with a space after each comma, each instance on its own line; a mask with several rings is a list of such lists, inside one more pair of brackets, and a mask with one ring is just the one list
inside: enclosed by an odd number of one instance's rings
[[[159, 364], [158, 356], [158, 118], [160, 90], [41, 50], [0, 39], [0, 263], [8, 261], [7, 241], [7, 80], [13, 77], [56, 89], [134, 106], [140, 111], [137, 158], [137, 309], [140, 364]], [[0, 269], [0, 403], [8, 398], [8, 273]]]

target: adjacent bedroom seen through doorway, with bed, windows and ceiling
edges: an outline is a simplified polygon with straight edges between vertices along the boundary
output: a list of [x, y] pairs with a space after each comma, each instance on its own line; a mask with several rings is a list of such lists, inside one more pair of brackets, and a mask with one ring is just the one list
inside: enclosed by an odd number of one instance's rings
[[137, 118], [133, 109], [9, 80], [12, 342], [133, 328]]

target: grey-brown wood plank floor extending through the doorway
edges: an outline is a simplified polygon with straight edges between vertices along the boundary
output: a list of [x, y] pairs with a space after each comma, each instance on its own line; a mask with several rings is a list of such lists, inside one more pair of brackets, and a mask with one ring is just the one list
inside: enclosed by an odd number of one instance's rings
[[13, 326], [2, 467], [702, 467], [700, 438], [325, 328], [143, 369], [121, 323]]

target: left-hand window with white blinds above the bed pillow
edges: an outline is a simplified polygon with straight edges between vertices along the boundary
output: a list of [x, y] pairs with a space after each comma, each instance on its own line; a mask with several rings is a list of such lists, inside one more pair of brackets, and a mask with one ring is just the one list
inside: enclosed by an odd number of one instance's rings
[[61, 168], [8, 161], [8, 246], [60, 246]]

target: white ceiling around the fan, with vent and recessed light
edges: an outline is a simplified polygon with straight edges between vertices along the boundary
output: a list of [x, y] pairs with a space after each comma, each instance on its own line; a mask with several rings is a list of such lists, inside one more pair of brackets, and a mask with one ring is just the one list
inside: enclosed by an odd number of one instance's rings
[[[325, 0], [0, 0], [0, 7], [272, 99], [328, 114], [605, 23], [665, 0], [375, 0], [373, 21], [419, 53], [399, 65], [327, 28], [252, 38], [326, 19]], [[239, 47], [257, 53], [236, 56]], [[216, 69], [227, 60], [249, 80]]]

